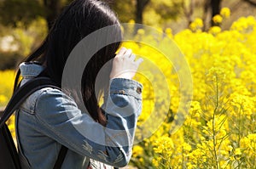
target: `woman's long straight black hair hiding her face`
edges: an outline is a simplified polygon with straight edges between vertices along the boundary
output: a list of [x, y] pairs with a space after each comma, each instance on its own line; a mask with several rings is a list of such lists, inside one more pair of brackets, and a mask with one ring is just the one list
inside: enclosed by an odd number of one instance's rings
[[[61, 87], [62, 72], [67, 57], [73, 48], [91, 32], [108, 25], [114, 25], [114, 38], [121, 39], [119, 20], [108, 7], [108, 4], [99, 0], [74, 0], [55, 20], [41, 46], [23, 61], [38, 61], [40, 64], [44, 64], [45, 69], [41, 76], [49, 76], [52, 81]], [[102, 125], [106, 125], [106, 117], [103, 115], [103, 110], [99, 107], [96, 99], [96, 76], [102, 66], [113, 59], [119, 45], [120, 42], [115, 42], [100, 49], [86, 65], [81, 80], [84, 105], [91, 117]], [[109, 73], [110, 70], [108, 71], [108, 78]], [[14, 90], [19, 86], [19, 83], [20, 70], [17, 71], [15, 77]], [[102, 89], [107, 85], [102, 84]]]

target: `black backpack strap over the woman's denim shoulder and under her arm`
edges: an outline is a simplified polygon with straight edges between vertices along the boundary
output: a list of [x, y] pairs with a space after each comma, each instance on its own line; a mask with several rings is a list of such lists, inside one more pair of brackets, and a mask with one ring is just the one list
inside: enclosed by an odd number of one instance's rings
[[[38, 77], [30, 80], [29, 82], [26, 82], [23, 86], [17, 89], [12, 98], [9, 100], [9, 103], [7, 104], [5, 110], [3, 111], [3, 115], [0, 118], [0, 127], [4, 125], [4, 123], [9, 119], [10, 115], [12, 115], [15, 110], [19, 108], [20, 104], [22, 104], [29, 95], [44, 87], [59, 88], [56, 87], [55, 82], [52, 82], [49, 78]], [[61, 168], [66, 154], [67, 147], [62, 145], [57, 161], [55, 162], [54, 169]]]

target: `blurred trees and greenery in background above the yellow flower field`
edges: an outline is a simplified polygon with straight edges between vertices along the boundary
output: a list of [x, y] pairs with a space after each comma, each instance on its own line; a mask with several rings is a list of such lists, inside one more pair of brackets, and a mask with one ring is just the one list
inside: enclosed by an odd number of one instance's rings
[[[55, 17], [72, 0], [1, 0], [0, 1], [0, 70], [14, 69], [43, 41]], [[207, 31], [212, 16], [230, 8], [231, 15], [221, 27], [228, 29], [241, 16], [256, 14], [254, 0], [109, 0], [123, 23], [152, 25], [176, 34], [196, 18]], [[216, 23], [215, 23], [216, 24]]]

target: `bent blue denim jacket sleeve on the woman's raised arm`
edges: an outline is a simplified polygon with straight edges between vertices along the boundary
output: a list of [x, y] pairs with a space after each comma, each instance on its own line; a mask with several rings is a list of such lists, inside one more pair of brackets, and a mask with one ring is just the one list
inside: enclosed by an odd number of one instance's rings
[[48, 88], [37, 99], [35, 117], [44, 134], [80, 155], [111, 166], [125, 166], [142, 110], [142, 85], [117, 78], [110, 81], [104, 111], [108, 120], [102, 127], [60, 90]]

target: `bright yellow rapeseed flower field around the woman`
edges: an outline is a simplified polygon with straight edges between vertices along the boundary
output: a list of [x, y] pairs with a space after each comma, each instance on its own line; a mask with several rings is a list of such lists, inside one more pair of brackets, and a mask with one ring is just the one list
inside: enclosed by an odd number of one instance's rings
[[[228, 17], [227, 8], [213, 18], [221, 23]], [[150, 137], [133, 147], [131, 165], [138, 168], [255, 168], [256, 166], [256, 20], [241, 17], [221, 30], [213, 26], [201, 31], [203, 22], [196, 19], [189, 29], [172, 35], [166, 29], [160, 37], [137, 33], [138, 38], [152, 38], [156, 44], [169, 48], [165, 38], [177, 43], [189, 63], [193, 77], [193, 100], [187, 104], [188, 115], [177, 132], [170, 132], [180, 101], [177, 72], [164, 64], [147, 46], [137, 42], [124, 42], [134, 53], [147, 56], [162, 70], [170, 89], [170, 108], [163, 121]], [[147, 66], [147, 65], [142, 65]], [[161, 87], [157, 76], [154, 82]], [[0, 72], [0, 105], [7, 103], [14, 81], [14, 71]], [[137, 76], [143, 83], [143, 112], [139, 117], [137, 138], [154, 109], [155, 91], [147, 78]], [[165, 94], [165, 93], [162, 93]], [[169, 100], [160, 100], [164, 103]], [[159, 113], [164, 109], [159, 106]], [[155, 117], [157, 119], [158, 117]], [[154, 123], [154, 121], [151, 121]], [[13, 126], [13, 120], [9, 122]], [[12, 127], [13, 128], [13, 127]]]

